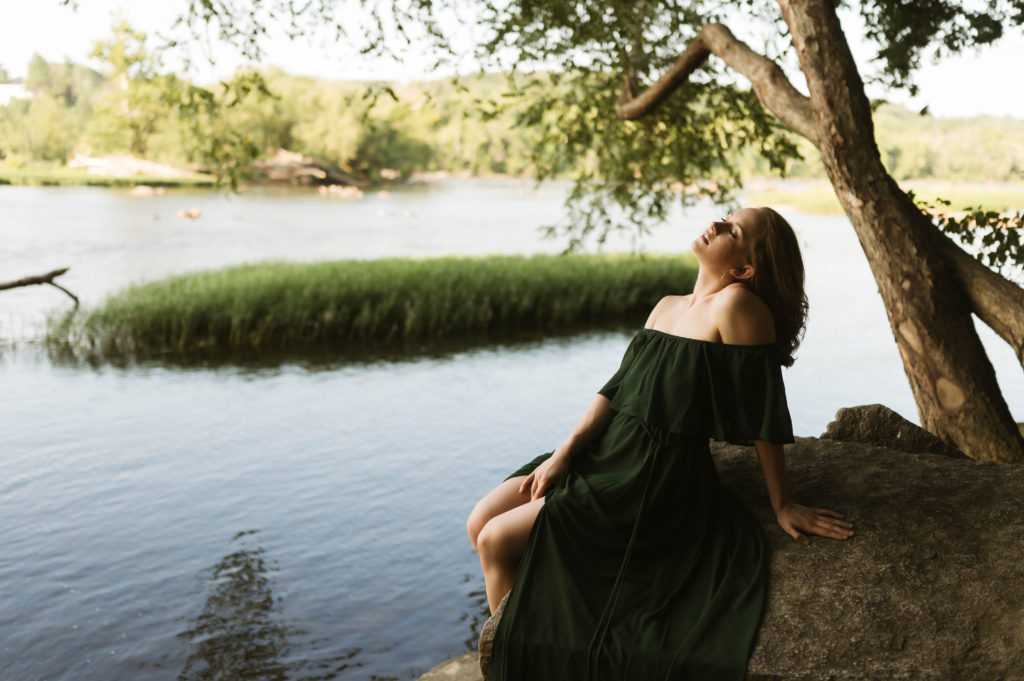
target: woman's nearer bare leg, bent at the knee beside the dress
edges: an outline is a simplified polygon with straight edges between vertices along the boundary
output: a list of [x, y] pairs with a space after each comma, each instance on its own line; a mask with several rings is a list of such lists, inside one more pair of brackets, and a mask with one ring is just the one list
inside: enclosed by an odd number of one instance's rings
[[542, 497], [496, 515], [483, 525], [477, 537], [476, 552], [480, 554], [492, 614], [512, 589], [529, 530], [543, 506]]

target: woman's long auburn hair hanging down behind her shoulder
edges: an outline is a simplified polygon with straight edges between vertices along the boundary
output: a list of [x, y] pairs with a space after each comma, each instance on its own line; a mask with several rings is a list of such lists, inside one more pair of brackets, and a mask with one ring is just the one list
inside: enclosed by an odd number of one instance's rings
[[784, 367], [792, 367], [807, 326], [804, 293], [804, 258], [793, 227], [771, 208], [759, 208], [767, 229], [752, 245], [754, 274], [750, 284], [771, 309], [775, 322], [775, 348]]

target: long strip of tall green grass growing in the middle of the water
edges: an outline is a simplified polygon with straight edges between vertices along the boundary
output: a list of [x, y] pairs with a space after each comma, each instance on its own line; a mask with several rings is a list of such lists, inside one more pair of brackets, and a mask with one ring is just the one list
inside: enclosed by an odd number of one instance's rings
[[374, 344], [640, 324], [688, 292], [692, 255], [489, 256], [262, 263], [126, 289], [50, 322], [90, 352], [189, 352]]

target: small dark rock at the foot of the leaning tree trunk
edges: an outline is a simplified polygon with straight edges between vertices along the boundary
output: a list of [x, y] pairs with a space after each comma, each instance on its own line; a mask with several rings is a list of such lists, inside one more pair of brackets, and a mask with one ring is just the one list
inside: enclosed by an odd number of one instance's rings
[[824, 439], [882, 444], [900, 452], [965, 457], [963, 452], [921, 426], [910, 423], [885, 405], [846, 407], [821, 433]]

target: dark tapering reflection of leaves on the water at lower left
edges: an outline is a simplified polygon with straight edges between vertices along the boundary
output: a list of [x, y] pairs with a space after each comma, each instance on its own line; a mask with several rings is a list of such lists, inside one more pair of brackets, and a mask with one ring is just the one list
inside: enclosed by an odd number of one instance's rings
[[273, 595], [274, 568], [251, 545], [256, 539], [256, 530], [239, 533], [234, 550], [208, 570], [203, 611], [178, 634], [190, 648], [179, 681], [288, 679], [290, 631]]

